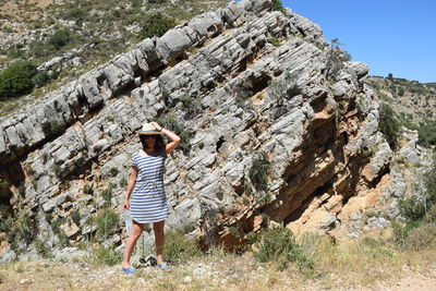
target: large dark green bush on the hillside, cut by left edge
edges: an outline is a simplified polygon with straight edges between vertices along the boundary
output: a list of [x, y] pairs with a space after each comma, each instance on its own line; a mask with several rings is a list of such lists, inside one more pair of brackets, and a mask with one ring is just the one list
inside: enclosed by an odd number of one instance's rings
[[36, 65], [29, 61], [15, 62], [0, 72], [0, 100], [31, 93], [36, 73]]

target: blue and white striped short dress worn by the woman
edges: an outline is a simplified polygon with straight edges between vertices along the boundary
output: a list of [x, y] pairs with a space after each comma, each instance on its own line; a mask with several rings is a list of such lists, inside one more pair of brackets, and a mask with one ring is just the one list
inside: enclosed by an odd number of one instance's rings
[[132, 219], [150, 223], [168, 218], [167, 196], [164, 190], [165, 155], [132, 155], [132, 165], [138, 169], [130, 201]]

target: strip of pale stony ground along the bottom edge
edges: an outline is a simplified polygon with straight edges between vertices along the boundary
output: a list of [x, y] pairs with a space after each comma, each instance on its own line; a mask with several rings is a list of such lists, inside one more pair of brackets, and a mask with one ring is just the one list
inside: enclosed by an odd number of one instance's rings
[[[120, 266], [39, 260], [5, 264], [0, 270], [1, 290], [434, 290], [435, 264], [426, 267], [374, 266], [374, 277], [355, 270], [327, 271], [314, 278], [295, 269], [277, 271], [258, 264], [250, 253], [206, 257], [172, 266], [164, 272], [142, 268], [123, 275]], [[378, 268], [383, 267], [380, 270]], [[367, 271], [367, 270], [366, 270]], [[366, 274], [365, 271], [365, 274]]]

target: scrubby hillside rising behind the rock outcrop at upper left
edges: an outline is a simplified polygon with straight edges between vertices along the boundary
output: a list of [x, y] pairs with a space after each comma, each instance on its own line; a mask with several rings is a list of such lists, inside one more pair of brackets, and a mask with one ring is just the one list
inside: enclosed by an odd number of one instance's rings
[[28, 97], [1, 100], [0, 85], [0, 117], [132, 49], [144, 38], [152, 15], [162, 13], [174, 26], [226, 4], [226, 0], [1, 2], [0, 71], [31, 60], [38, 66], [39, 77]]

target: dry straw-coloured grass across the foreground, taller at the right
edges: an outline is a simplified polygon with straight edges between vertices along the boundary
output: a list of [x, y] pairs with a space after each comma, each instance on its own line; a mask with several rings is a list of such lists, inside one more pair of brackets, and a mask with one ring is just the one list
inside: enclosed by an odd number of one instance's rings
[[119, 266], [92, 262], [31, 262], [4, 264], [0, 289], [32, 290], [320, 290], [402, 286], [426, 287], [436, 282], [436, 250], [398, 251], [375, 240], [332, 244], [326, 238], [303, 240], [315, 254], [315, 271], [307, 276], [296, 265], [278, 271], [274, 264], [259, 264], [243, 255], [216, 248], [172, 266], [169, 272], [140, 269], [125, 276]]

